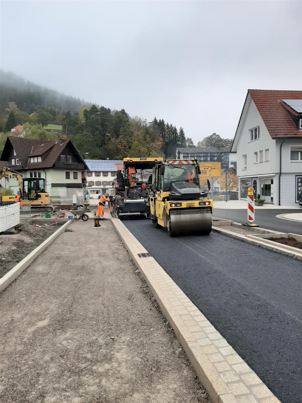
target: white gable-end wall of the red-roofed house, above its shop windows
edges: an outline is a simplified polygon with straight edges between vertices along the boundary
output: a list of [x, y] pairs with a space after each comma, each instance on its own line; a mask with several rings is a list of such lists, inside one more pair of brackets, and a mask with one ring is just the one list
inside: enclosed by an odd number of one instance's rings
[[[260, 135], [258, 140], [249, 141], [249, 129], [259, 126]], [[261, 174], [272, 174], [276, 172], [275, 166], [275, 140], [271, 138], [267, 128], [254, 104], [251, 100], [248, 107], [246, 119], [242, 130], [237, 133], [239, 136], [237, 144], [237, 175], [257, 176]], [[269, 162], [254, 164], [254, 152], [269, 148]], [[263, 152], [264, 153], [264, 152]], [[247, 154], [247, 169], [242, 169], [242, 155]], [[259, 156], [258, 156], [259, 157]], [[264, 159], [264, 158], [263, 158]]]

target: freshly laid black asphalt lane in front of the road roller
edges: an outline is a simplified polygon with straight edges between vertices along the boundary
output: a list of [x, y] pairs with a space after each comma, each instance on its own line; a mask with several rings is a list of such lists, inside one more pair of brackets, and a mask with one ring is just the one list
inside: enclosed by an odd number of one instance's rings
[[214, 232], [171, 238], [150, 220], [123, 222], [273, 394], [301, 403], [301, 261]]

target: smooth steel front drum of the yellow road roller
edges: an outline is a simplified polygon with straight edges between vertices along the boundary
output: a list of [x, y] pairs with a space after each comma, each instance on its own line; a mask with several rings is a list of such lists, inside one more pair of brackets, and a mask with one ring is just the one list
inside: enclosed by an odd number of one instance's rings
[[170, 236], [177, 235], [208, 235], [212, 230], [210, 209], [170, 210], [167, 231]]

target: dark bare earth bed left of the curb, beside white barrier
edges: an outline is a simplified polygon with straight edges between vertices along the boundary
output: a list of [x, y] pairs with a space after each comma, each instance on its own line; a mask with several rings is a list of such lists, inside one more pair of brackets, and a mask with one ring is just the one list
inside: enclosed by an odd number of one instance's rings
[[60, 223], [52, 226], [39, 224], [40, 228], [33, 224], [35, 222], [21, 224], [17, 234], [0, 235], [0, 278], [62, 225]]

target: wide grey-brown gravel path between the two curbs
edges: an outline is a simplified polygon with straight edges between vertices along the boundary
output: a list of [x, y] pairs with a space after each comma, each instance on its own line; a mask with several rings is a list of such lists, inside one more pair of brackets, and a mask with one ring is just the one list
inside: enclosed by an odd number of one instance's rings
[[0, 294], [0, 401], [210, 403], [111, 222], [73, 222]]

